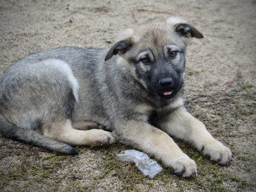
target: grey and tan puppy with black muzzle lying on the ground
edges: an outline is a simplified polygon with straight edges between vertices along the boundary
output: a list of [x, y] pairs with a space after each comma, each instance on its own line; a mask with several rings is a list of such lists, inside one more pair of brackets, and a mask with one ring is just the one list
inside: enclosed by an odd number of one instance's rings
[[230, 149], [184, 107], [186, 45], [193, 37], [204, 36], [172, 17], [125, 30], [110, 49], [64, 47], [15, 62], [0, 82], [1, 134], [61, 154], [115, 137], [177, 175], [195, 177], [195, 161], [172, 135], [229, 164]]

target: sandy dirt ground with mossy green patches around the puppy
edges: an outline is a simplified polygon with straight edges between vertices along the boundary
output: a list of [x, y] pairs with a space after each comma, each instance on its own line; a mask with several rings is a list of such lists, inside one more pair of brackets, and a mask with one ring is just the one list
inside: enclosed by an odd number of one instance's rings
[[218, 166], [177, 141], [195, 159], [198, 177], [164, 168], [150, 180], [116, 161], [130, 148], [121, 144], [77, 147], [72, 157], [0, 137], [0, 191], [256, 191], [255, 10], [255, 0], [0, 0], [0, 76], [32, 52], [108, 47], [122, 29], [173, 15], [189, 20], [205, 38], [188, 47], [187, 108], [234, 153], [230, 166]]

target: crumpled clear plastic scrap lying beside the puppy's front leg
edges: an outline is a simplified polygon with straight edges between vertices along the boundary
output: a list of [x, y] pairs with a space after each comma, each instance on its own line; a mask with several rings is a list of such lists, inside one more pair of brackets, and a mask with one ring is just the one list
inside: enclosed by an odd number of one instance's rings
[[163, 168], [153, 159], [150, 159], [147, 154], [138, 150], [125, 150], [122, 154], [117, 154], [116, 159], [120, 161], [134, 162], [143, 175], [153, 179]]

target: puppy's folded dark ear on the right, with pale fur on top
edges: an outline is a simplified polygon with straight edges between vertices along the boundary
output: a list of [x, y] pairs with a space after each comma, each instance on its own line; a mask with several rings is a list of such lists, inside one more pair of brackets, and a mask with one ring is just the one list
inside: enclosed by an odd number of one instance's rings
[[178, 17], [170, 17], [166, 20], [168, 24], [172, 24], [174, 29], [180, 36], [195, 37], [195, 38], [204, 38], [202, 33], [198, 31], [193, 26], [189, 25], [186, 20], [180, 19]]

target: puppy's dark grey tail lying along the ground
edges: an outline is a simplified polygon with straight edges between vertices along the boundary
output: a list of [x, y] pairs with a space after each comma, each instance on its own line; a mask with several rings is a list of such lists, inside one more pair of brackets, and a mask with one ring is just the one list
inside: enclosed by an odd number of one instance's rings
[[60, 154], [65, 155], [76, 155], [77, 152], [74, 147], [68, 145], [67, 143], [63, 143], [61, 141], [54, 140], [52, 138], [48, 138], [36, 131], [32, 131], [30, 129], [22, 129], [8, 122], [6, 118], [0, 113], [0, 134], [4, 137], [17, 140], [22, 143], [28, 143], [31, 145], [35, 145], [36, 147], [47, 148], [51, 151], [56, 151]]

